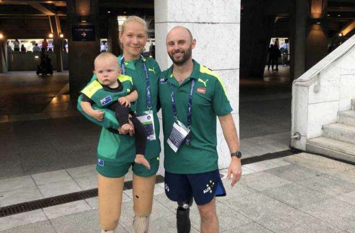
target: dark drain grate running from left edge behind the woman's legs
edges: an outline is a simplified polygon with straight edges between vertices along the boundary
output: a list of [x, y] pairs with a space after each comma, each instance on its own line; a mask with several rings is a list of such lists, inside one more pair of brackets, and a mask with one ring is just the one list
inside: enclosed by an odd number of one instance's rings
[[[157, 175], [156, 183], [164, 182], [164, 177]], [[126, 181], [123, 185], [123, 190], [132, 189], [132, 181]], [[45, 208], [54, 205], [65, 204], [73, 201], [84, 200], [91, 197], [97, 197], [97, 189], [81, 191], [77, 193], [69, 193], [56, 197], [48, 197], [40, 200], [23, 202], [14, 205], [0, 207], [0, 218], [10, 215], [15, 215], [23, 212], [34, 211], [35, 209]]]

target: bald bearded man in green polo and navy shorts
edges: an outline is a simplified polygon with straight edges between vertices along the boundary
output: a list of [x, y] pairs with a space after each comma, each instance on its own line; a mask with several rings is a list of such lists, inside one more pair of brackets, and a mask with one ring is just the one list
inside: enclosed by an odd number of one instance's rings
[[222, 126], [232, 161], [227, 179], [232, 186], [242, 173], [232, 107], [218, 75], [192, 59], [196, 40], [184, 27], [166, 37], [173, 65], [163, 72], [159, 96], [164, 130], [165, 193], [177, 201], [177, 232], [190, 232], [189, 207], [195, 200], [201, 232], [218, 232], [215, 196], [225, 191], [218, 171], [216, 116]]

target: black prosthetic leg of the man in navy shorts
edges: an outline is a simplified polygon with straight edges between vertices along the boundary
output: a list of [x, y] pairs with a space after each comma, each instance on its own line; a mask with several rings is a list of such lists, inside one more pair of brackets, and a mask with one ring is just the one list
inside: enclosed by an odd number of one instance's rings
[[190, 233], [191, 222], [190, 222], [190, 207], [193, 203], [193, 198], [187, 202], [178, 201], [179, 205], [176, 210], [176, 227], [177, 233]]

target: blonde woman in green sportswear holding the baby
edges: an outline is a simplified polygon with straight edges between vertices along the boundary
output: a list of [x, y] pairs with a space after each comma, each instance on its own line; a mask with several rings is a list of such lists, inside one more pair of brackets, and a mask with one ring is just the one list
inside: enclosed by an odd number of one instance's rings
[[[146, 122], [151, 123], [148, 124], [150, 126], [148, 136], [150, 136], [145, 151], [145, 157], [149, 161], [151, 169], [147, 170], [143, 165], [134, 164], [135, 139], [126, 134], [128, 132], [120, 130], [112, 111], [100, 109], [105, 111], [102, 122], [86, 115], [92, 122], [103, 126], [97, 148], [98, 162], [96, 166], [99, 218], [102, 232], [113, 232], [117, 227], [121, 213], [124, 175], [132, 166], [134, 173], [133, 209], [135, 212], [133, 228], [136, 232], [147, 232], [161, 151], [157, 115], [158, 77], [161, 71], [154, 59], [140, 56], [147, 40], [147, 26], [142, 18], [128, 17], [122, 25], [119, 40], [123, 55], [117, 59], [122, 68], [122, 74], [132, 77], [133, 84], [138, 91], [137, 116], [141, 119], [148, 119]], [[94, 76], [94, 78], [96, 77]], [[79, 97], [78, 103], [80, 102], [81, 97]], [[94, 105], [92, 106], [97, 109]], [[78, 104], [78, 109], [83, 113], [80, 104]], [[121, 135], [117, 133], [117, 129], [122, 133]]]

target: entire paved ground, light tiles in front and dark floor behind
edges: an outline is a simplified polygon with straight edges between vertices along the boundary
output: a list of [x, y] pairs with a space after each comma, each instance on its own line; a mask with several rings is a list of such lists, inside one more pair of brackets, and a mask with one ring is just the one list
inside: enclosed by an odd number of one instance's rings
[[[75, 109], [67, 73], [1, 78], [0, 207], [97, 187], [100, 129]], [[244, 158], [288, 148], [290, 105], [287, 67], [240, 80]], [[243, 174], [233, 189], [223, 181], [228, 195], [217, 203], [221, 232], [355, 233], [354, 166], [302, 153], [245, 165]], [[132, 190], [124, 191], [123, 202], [118, 232], [132, 232]], [[176, 232], [175, 207], [157, 184], [150, 232]], [[196, 206], [191, 215], [192, 232], [198, 232]], [[0, 232], [98, 232], [97, 219], [97, 198], [91, 198], [0, 218]]]

